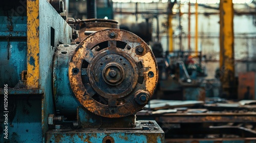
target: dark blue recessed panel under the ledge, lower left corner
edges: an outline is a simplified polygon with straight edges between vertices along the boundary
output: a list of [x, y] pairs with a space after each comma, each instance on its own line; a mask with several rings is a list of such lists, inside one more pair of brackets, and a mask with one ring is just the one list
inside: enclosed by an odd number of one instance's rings
[[[4, 96], [0, 96], [0, 99], [1, 102], [4, 101]], [[40, 142], [42, 138], [40, 96], [10, 95], [8, 111], [8, 139], [4, 138], [4, 126], [0, 126], [0, 142]], [[3, 113], [1, 110], [1, 118]]]

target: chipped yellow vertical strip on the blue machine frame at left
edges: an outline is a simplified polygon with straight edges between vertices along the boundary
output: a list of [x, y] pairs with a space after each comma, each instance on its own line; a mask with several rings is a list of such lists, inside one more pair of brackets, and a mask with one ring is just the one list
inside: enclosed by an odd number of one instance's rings
[[28, 89], [39, 88], [39, 0], [27, 0]]

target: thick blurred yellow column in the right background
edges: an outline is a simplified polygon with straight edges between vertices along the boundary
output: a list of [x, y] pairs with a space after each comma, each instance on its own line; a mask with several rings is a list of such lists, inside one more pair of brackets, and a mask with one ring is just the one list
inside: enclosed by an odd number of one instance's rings
[[223, 92], [232, 98], [234, 91], [234, 32], [232, 0], [220, 1], [220, 70]]

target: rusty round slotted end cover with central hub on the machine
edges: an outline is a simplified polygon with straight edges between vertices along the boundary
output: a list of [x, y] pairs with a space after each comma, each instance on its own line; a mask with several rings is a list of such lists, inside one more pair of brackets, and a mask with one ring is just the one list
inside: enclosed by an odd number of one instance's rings
[[156, 59], [135, 34], [97, 31], [76, 47], [69, 81], [77, 100], [94, 114], [118, 118], [134, 114], [153, 96], [158, 80]]

